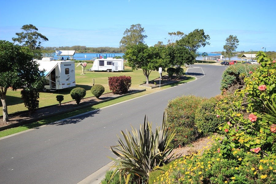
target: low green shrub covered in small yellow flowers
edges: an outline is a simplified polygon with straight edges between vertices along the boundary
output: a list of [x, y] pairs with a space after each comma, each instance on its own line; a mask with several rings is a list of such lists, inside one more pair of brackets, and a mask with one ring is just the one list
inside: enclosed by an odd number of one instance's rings
[[[233, 159], [225, 159], [217, 146], [203, 155], [183, 156], [171, 163], [158, 176], [150, 174], [154, 184], [170, 183], [275, 183], [275, 155], [259, 157], [243, 150], [235, 150]], [[157, 171], [154, 171], [157, 172]]]

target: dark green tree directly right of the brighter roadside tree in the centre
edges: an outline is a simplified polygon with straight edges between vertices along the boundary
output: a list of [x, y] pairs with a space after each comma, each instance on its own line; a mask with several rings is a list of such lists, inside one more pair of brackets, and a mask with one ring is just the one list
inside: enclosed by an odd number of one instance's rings
[[167, 52], [171, 66], [181, 67], [185, 63], [187, 65], [194, 64], [196, 58], [194, 52], [190, 52], [184, 46], [170, 45], [167, 47]]

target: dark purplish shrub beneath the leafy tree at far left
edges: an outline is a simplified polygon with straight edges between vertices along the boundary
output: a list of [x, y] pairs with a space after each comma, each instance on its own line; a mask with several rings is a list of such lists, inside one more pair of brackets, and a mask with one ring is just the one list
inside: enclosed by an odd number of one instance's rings
[[26, 108], [34, 113], [39, 107], [39, 92], [36, 89], [24, 89], [21, 91], [21, 98]]

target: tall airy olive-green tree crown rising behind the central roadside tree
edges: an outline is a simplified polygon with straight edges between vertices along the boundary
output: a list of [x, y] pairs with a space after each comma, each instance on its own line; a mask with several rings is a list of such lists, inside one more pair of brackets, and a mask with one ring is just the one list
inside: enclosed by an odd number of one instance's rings
[[144, 39], [147, 35], [143, 35], [144, 28], [140, 24], [131, 25], [130, 29], [126, 29], [123, 38], [120, 41], [120, 47], [126, 47], [131, 45], [136, 45], [139, 43], [144, 43]]

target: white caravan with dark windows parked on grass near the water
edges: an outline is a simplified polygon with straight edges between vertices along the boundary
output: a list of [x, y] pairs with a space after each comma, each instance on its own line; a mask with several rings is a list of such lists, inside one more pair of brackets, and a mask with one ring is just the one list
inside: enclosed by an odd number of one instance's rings
[[123, 71], [124, 70], [123, 59], [95, 59], [92, 68], [87, 71]]

